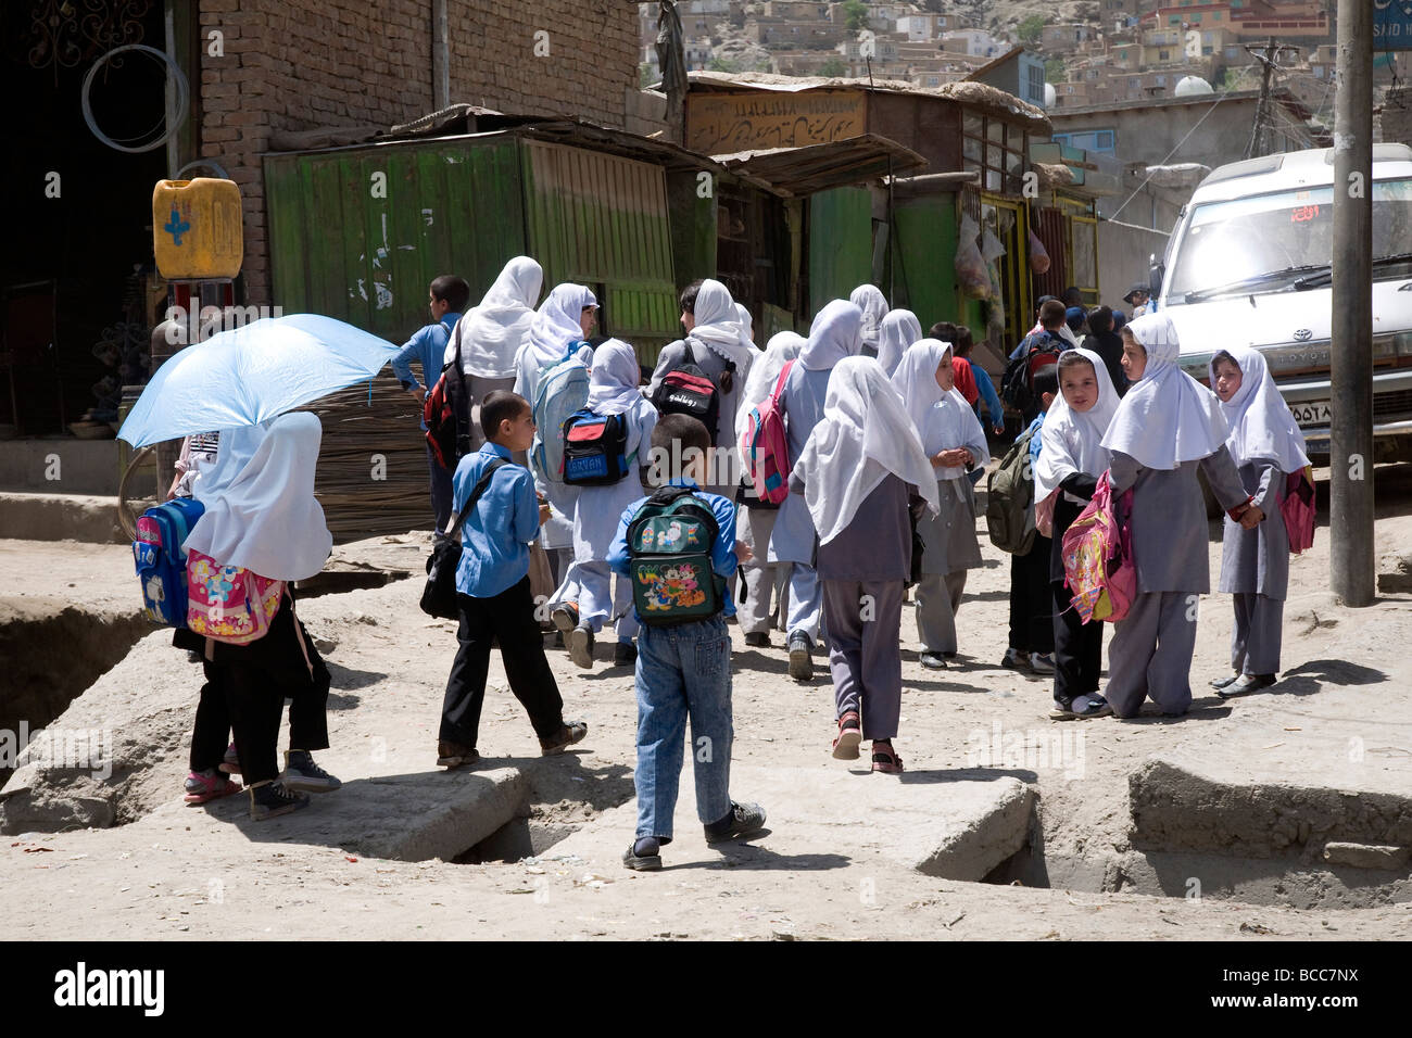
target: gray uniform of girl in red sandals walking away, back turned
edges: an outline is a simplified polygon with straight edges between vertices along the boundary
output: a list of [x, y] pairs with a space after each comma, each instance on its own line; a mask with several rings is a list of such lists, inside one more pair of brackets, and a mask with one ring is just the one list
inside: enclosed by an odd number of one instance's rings
[[894, 475], [819, 545], [836, 716], [857, 710], [864, 739], [897, 736], [902, 713], [902, 583], [912, 566], [908, 486]]

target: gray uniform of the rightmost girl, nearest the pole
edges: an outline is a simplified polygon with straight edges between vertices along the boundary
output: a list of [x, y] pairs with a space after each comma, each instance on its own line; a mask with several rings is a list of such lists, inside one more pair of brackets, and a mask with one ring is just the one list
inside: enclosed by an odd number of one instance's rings
[[1279, 511], [1285, 473], [1274, 459], [1257, 458], [1240, 466], [1241, 482], [1265, 513], [1254, 530], [1230, 515], [1221, 549], [1217, 590], [1234, 596], [1231, 669], [1237, 674], [1278, 674], [1284, 641], [1285, 596], [1289, 593], [1289, 534]]

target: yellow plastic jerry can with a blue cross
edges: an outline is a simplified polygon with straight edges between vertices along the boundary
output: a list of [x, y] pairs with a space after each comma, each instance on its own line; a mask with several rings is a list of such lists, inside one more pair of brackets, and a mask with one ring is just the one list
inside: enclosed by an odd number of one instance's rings
[[157, 181], [152, 251], [168, 281], [236, 277], [244, 260], [240, 188], [212, 177]]

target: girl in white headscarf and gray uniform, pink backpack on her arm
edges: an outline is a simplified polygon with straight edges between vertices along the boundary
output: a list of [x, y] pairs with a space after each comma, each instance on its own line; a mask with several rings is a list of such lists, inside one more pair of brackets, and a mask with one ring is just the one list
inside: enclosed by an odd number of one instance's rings
[[1196, 650], [1193, 596], [1210, 590], [1206, 501], [1196, 473], [1233, 518], [1250, 494], [1226, 449], [1226, 418], [1216, 395], [1176, 360], [1180, 345], [1166, 314], [1123, 329], [1123, 367], [1132, 388], [1103, 436], [1113, 493], [1132, 490], [1131, 542], [1137, 597], [1114, 624], [1106, 699], [1118, 717], [1134, 717], [1151, 698], [1179, 716], [1192, 703]]

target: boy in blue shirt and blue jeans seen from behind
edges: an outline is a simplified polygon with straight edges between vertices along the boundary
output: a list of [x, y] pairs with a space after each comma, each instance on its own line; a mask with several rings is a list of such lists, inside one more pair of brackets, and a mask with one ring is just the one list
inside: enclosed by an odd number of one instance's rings
[[[652, 429], [654, 465], [671, 459], [678, 469], [672, 486], [690, 487], [716, 518], [716, 539], [710, 545], [712, 578], [720, 586], [750, 548], [736, 541], [736, 506], [719, 494], [698, 490], [706, 472], [712, 436], [689, 415], [664, 415]], [[627, 531], [650, 499], [630, 504], [618, 520], [617, 537], [609, 551], [613, 572], [631, 579], [633, 556]], [[696, 774], [696, 816], [706, 829], [707, 843], [737, 839], [758, 832], [765, 812], [755, 804], [730, 799], [730, 744], [734, 737], [730, 710], [730, 634], [726, 617], [736, 612], [730, 595], [722, 596], [722, 612], [699, 620], [661, 626], [638, 613], [637, 655], [637, 839], [623, 854], [623, 864], [641, 871], [661, 869], [661, 845], [672, 842], [672, 816], [682, 774], [682, 739], [686, 719], [692, 722], [692, 754]]]

